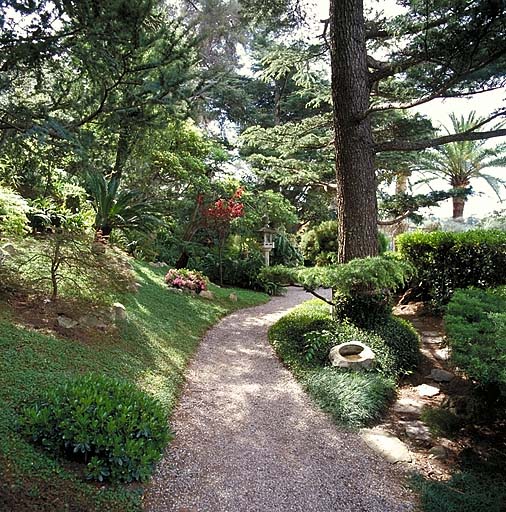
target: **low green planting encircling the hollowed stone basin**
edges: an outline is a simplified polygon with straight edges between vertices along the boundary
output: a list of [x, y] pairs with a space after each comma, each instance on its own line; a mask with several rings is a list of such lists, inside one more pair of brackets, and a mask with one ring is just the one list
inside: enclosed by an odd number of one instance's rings
[[[269, 339], [323, 410], [341, 425], [360, 427], [379, 419], [395, 394], [396, 379], [418, 363], [418, 336], [413, 328], [398, 322], [389, 319], [383, 331], [379, 326], [376, 332], [361, 329], [337, 322], [327, 304], [312, 300], [278, 320]], [[396, 329], [392, 325], [399, 326], [397, 336], [389, 335]], [[352, 340], [367, 343], [377, 354], [375, 370], [352, 372], [329, 366], [330, 348]]]

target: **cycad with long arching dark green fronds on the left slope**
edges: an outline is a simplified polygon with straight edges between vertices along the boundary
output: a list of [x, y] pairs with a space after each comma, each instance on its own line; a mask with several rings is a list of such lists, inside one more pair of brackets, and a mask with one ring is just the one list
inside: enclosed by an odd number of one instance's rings
[[137, 190], [119, 190], [120, 180], [90, 174], [88, 190], [95, 209], [94, 227], [108, 237], [113, 229], [147, 231], [161, 224], [160, 205]]

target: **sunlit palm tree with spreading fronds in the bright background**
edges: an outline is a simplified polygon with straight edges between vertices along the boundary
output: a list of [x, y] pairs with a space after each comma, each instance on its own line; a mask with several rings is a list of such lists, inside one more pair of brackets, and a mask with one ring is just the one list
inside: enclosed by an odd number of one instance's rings
[[[450, 121], [452, 130], [445, 128], [448, 134], [471, 131], [476, 125], [483, 123], [484, 119], [473, 111], [467, 118], [450, 114]], [[444, 144], [423, 153], [415, 166], [417, 171], [424, 174], [424, 181], [442, 178], [452, 187], [455, 192], [452, 199], [454, 219], [464, 215], [468, 189], [471, 181], [476, 178], [484, 179], [499, 200], [502, 200], [500, 192], [505, 182], [483, 171], [506, 165], [506, 144], [485, 147], [485, 143], [485, 140], [468, 140]]]

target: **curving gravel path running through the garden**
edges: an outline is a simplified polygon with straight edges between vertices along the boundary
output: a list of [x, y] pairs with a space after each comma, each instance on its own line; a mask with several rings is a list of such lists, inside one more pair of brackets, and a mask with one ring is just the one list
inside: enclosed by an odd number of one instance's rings
[[290, 290], [212, 328], [190, 365], [153, 512], [413, 510], [402, 473], [339, 430], [283, 368], [267, 330], [311, 298]]

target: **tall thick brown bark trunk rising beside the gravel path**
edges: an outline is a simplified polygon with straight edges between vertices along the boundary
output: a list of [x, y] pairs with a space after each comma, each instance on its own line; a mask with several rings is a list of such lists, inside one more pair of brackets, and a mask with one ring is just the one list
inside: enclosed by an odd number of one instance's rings
[[362, 0], [331, 0], [338, 261], [378, 254], [376, 176]]

